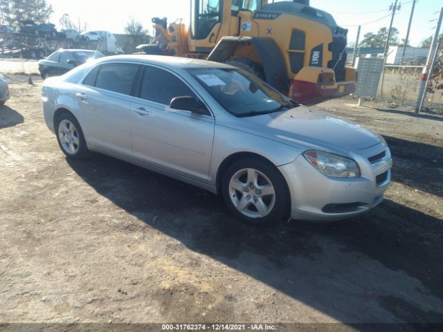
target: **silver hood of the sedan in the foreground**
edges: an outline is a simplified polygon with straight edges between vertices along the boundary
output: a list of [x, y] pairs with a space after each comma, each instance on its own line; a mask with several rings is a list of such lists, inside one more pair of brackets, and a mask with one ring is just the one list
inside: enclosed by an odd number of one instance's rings
[[241, 119], [244, 120], [243, 130], [292, 145], [348, 150], [372, 147], [382, 140], [377, 133], [359, 124], [302, 105], [287, 111]]

